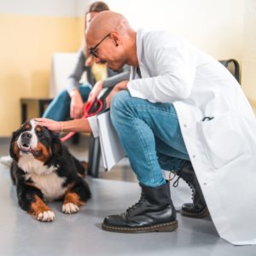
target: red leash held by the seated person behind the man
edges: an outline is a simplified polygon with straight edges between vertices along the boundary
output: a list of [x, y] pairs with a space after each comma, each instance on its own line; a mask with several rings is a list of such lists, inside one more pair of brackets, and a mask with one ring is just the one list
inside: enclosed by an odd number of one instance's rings
[[[94, 109], [96, 108], [96, 109]], [[90, 116], [96, 115], [97, 113], [100, 113], [103, 108], [103, 102], [100, 99], [95, 99], [94, 102], [86, 102], [84, 104], [84, 114], [82, 116], [82, 119], [86, 119]], [[66, 142], [69, 138], [73, 137], [75, 134], [74, 131], [68, 132], [66, 136], [61, 137], [61, 142]]]

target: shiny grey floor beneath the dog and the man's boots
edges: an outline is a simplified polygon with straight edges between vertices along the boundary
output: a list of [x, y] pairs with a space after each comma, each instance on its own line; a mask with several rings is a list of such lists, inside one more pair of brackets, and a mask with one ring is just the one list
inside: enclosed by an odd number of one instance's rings
[[[79, 159], [85, 158], [83, 144], [70, 148]], [[7, 153], [8, 143], [0, 144], [0, 155]], [[122, 212], [137, 201], [136, 178], [123, 161], [113, 171], [101, 172], [101, 178], [86, 179], [93, 195], [88, 204], [76, 214], [65, 215], [61, 202], [51, 202], [55, 221], [45, 224], [18, 207], [9, 170], [0, 166], [0, 255], [256, 255], [255, 246], [235, 247], [219, 238], [211, 218], [183, 218], [178, 213], [179, 227], [172, 233], [103, 231], [105, 216]]]

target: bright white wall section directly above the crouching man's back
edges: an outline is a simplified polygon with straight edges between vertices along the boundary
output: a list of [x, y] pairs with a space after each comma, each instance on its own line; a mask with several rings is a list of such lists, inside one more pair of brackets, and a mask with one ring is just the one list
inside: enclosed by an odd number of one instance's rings
[[[253, 0], [252, 0], [253, 1]], [[92, 3], [93, 1], [90, 1]], [[218, 59], [241, 61], [245, 0], [106, 0], [134, 28], [178, 32]], [[256, 0], [254, 0], [256, 2]]]

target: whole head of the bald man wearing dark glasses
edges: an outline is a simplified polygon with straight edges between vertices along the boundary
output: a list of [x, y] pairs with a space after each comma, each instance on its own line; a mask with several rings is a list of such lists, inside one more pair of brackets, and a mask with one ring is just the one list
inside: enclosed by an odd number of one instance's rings
[[137, 65], [136, 35], [123, 15], [103, 11], [91, 20], [85, 41], [97, 63], [119, 70], [125, 64]]

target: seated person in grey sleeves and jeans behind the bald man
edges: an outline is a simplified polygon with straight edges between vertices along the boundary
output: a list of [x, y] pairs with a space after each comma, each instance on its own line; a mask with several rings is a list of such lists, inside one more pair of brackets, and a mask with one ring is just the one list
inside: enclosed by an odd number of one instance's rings
[[[92, 3], [84, 16], [85, 27], [98, 13], [108, 9], [106, 3]], [[49, 104], [44, 112], [44, 118], [54, 119], [55, 121], [67, 120], [69, 117], [79, 119], [83, 115], [84, 102], [88, 100], [89, 94], [90, 99], [93, 99], [102, 88], [113, 87], [115, 84], [129, 79], [130, 68], [128, 66], [119, 72], [114, 72], [106, 65], [96, 64], [87, 54], [87, 51], [86, 45], [79, 49], [73, 72], [67, 79], [66, 90], [61, 91]], [[84, 71], [87, 73], [87, 80], [90, 84], [79, 84]], [[91, 91], [92, 86], [93, 90]]]

